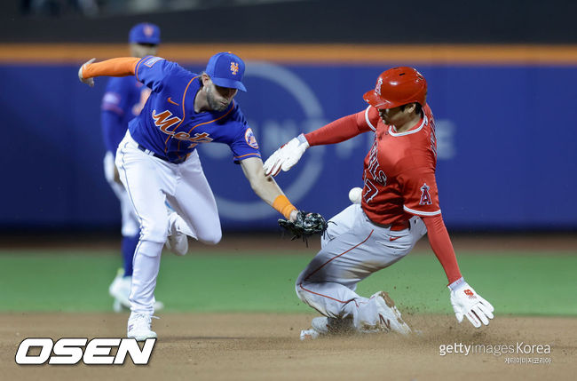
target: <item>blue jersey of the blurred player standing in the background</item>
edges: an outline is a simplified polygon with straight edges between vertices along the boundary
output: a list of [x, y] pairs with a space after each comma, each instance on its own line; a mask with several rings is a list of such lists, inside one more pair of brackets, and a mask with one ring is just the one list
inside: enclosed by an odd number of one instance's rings
[[107, 151], [116, 155], [116, 148], [126, 134], [128, 123], [140, 114], [150, 92], [132, 75], [108, 80], [100, 116]]

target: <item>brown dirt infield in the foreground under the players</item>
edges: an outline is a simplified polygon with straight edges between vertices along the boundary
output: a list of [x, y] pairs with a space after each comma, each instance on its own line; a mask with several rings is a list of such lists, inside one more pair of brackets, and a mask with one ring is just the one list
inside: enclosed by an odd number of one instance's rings
[[[497, 316], [489, 327], [473, 329], [457, 325], [454, 316], [413, 315], [407, 321], [423, 330], [419, 336], [302, 342], [300, 329], [308, 328], [312, 316], [162, 314], [154, 320], [160, 338], [150, 364], [113, 367], [19, 366], [14, 356], [25, 337], [118, 337], [126, 314], [0, 314], [0, 379], [561, 380], [577, 373], [575, 318]], [[440, 345], [460, 343], [472, 345], [468, 355], [440, 355]], [[521, 353], [488, 353], [496, 345], [517, 352], [518, 343]], [[526, 345], [550, 345], [550, 353], [527, 352]], [[507, 363], [508, 358], [544, 362]]]

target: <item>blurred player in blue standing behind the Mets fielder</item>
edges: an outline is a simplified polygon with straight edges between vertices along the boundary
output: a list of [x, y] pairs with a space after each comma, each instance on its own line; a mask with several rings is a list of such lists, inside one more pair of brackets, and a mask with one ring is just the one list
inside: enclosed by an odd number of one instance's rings
[[[154, 55], [161, 42], [161, 30], [154, 24], [141, 23], [130, 29], [129, 46], [132, 57], [142, 58]], [[138, 218], [132, 208], [129, 196], [120, 181], [115, 166], [116, 148], [124, 138], [128, 123], [146, 104], [150, 95], [148, 89], [133, 75], [112, 77], [108, 80], [107, 91], [102, 98], [101, 123], [107, 154], [104, 156], [104, 172], [108, 184], [120, 200], [122, 212], [122, 252], [124, 268], [119, 269], [108, 291], [115, 298], [113, 308], [120, 312], [130, 308], [130, 282], [132, 282], [132, 258], [138, 244], [140, 228]], [[156, 301], [156, 310], [162, 309], [162, 302]]]

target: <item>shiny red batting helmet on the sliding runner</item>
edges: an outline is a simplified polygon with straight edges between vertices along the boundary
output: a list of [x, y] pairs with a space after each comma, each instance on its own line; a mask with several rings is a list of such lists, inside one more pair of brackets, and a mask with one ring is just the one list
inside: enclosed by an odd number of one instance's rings
[[383, 71], [375, 89], [367, 91], [363, 99], [376, 108], [392, 108], [416, 102], [424, 106], [427, 81], [413, 67], [393, 67]]

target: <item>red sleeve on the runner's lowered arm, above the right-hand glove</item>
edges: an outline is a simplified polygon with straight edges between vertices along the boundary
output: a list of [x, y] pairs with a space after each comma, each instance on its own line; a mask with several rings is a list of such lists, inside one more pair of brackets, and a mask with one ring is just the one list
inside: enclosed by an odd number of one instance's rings
[[421, 218], [425, 226], [427, 226], [431, 249], [434, 251], [435, 256], [437, 256], [437, 259], [439, 259], [441, 266], [443, 266], [449, 284], [457, 281], [462, 275], [443, 218], [441, 215]]

